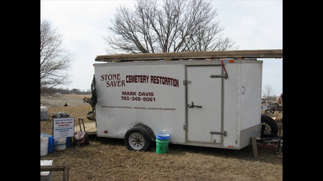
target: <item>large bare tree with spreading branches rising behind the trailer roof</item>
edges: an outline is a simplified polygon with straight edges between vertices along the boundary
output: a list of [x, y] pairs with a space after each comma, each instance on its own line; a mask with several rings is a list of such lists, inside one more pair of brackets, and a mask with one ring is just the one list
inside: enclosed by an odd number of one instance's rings
[[103, 37], [107, 53], [157, 53], [236, 50], [224, 28], [214, 21], [217, 10], [203, 0], [137, 0], [135, 11], [120, 6]]

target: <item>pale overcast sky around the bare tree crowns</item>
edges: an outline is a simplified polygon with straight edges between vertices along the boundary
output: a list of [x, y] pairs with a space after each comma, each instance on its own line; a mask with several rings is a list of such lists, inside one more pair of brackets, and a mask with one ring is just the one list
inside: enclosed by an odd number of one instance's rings
[[[283, 1], [211, 1], [217, 21], [239, 50], [283, 49]], [[116, 8], [134, 1], [40, 1], [40, 18], [63, 35], [63, 47], [75, 53], [69, 69], [70, 89], [86, 91], [94, 74], [97, 55], [105, 55], [104, 41]], [[283, 59], [263, 60], [262, 86], [272, 85], [274, 95], [283, 93]]]

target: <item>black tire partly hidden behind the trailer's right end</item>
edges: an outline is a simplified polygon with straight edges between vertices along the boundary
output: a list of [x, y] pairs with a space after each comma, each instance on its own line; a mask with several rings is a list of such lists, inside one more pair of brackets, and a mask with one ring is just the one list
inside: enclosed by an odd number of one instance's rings
[[267, 115], [261, 115], [261, 136], [260, 138], [268, 138], [278, 134], [278, 125], [276, 121]]

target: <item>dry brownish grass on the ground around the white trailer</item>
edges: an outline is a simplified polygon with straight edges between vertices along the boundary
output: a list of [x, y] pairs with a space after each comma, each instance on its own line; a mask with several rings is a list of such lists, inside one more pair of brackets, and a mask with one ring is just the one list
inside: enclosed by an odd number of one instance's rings
[[[52, 107], [48, 114], [66, 111], [85, 122], [91, 107]], [[40, 132], [52, 134], [52, 119], [40, 121]], [[70, 180], [282, 180], [283, 159], [273, 150], [258, 149], [252, 157], [250, 147], [241, 150], [169, 145], [168, 154], [129, 151], [123, 139], [95, 138], [90, 144], [55, 151], [41, 159], [69, 167]]]

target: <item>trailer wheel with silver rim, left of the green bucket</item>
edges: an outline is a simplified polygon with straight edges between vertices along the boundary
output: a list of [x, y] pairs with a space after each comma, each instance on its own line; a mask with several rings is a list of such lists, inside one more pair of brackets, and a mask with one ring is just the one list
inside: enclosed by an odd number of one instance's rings
[[147, 151], [152, 145], [152, 140], [145, 128], [135, 126], [126, 132], [125, 145], [128, 150]]

